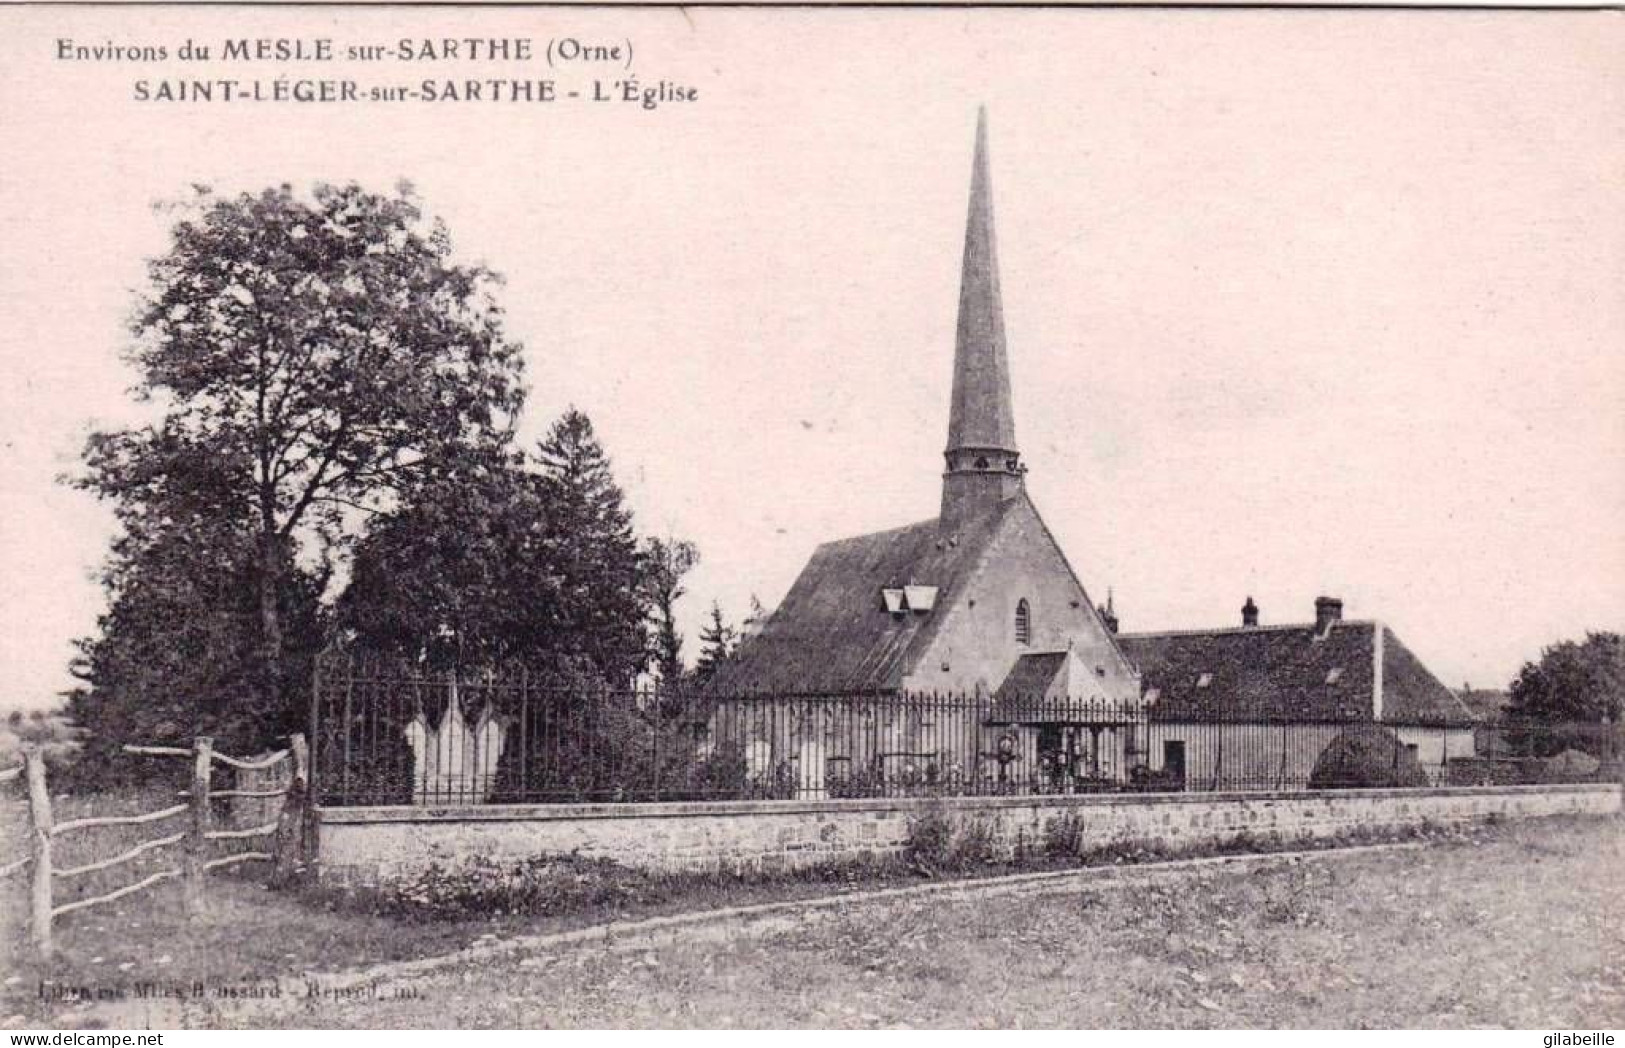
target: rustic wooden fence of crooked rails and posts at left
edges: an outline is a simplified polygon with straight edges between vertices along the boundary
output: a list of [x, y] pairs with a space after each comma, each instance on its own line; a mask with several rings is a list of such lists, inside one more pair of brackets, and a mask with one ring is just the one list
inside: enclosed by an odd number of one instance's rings
[[[0, 856], [0, 881], [32, 868], [31, 887], [31, 936], [34, 947], [41, 954], [52, 951], [52, 923], [55, 918], [99, 907], [125, 895], [146, 890], [164, 881], [179, 879], [184, 886], [184, 899], [188, 913], [197, 913], [205, 892], [206, 874], [211, 869], [224, 869], [240, 863], [273, 863], [280, 876], [292, 876], [294, 868], [306, 861], [309, 847], [309, 751], [302, 734], [289, 736], [288, 749], [260, 759], [231, 757], [214, 751], [214, 741], [202, 736], [192, 741], [192, 747], [180, 746], [125, 746], [125, 752], [146, 757], [188, 757], [192, 760], [192, 785], [180, 791], [184, 803], [136, 816], [94, 816], [86, 819], [70, 819], [55, 822], [50, 814], [50, 793], [46, 785], [46, 760], [37, 747], [23, 751], [23, 765], [0, 769], [0, 783], [15, 778], [28, 782], [28, 811], [31, 821], [29, 855], [11, 858]], [[284, 762], [292, 764], [292, 775], [283, 785], [270, 788], [232, 788], [214, 790], [214, 764], [224, 764], [242, 773], [275, 769]], [[271, 798], [281, 798], [280, 814], [268, 822], [249, 827], [214, 829], [213, 803], [218, 799], [252, 799], [250, 809], [263, 809]], [[78, 866], [60, 866], [54, 861], [54, 842], [63, 834], [88, 830], [99, 825], [159, 825], [179, 822], [180, 829], [151, 837], [130, 847], [119, 855], [104, 860], [81, 863]], [[232, 851], [210, 858], [211, 842], [254, 842], [268, 840], [262, 848]], [[55, 903], [54, 884], [83, 874], [110, 869], [136, 860], [150, 851], [180, 847], [179, 864], [159, 869], [141, 881], [125, 884], [102, 895], [78, 899], [62, 905]]]

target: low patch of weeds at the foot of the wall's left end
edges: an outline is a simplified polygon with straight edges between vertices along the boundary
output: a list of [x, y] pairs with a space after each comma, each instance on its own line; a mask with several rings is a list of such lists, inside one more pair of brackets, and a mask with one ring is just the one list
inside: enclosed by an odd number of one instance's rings
[[665, 895], [660, 881], [611, 860], [436, 856], [419, 873], [385, 887], [382, 910], [431, 918], [549, 915], [658, 902]]

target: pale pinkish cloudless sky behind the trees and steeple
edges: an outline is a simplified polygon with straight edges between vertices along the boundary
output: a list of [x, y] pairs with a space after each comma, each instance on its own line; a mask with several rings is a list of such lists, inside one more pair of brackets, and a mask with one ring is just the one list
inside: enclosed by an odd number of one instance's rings
[[[1167, 10], [0, 10], [0, 708], [70, 684], [106, 507], [55, 478], [146, 416], [154, 201], [411, 180], [505, 275], [523, 432], [569, 405], [682, 621], [772, 608], [821, 541], [933, 517], [986, 104], [1029, 489], [1126, 630], [1388, 622], [1448, 684], [1625, 626], [1625, 21]], [[57, 42], [630, 42], [692, 102], [159, 104], [187, 68]], [[696, 642], [689, 642], [689, 653]]]

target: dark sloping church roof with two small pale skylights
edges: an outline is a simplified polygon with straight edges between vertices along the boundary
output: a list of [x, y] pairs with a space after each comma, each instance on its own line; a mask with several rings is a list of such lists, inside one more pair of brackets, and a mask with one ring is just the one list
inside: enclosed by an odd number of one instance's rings
[[[824, 543], [762, 632], [712, 679], [710, 691], [899, 689], [1017, 502], [1011, 499], [967, 520], [951, 539], [931, 518]], [[910, 583], [938, 588], [934, 609], [889, 613], [881, 590]]]

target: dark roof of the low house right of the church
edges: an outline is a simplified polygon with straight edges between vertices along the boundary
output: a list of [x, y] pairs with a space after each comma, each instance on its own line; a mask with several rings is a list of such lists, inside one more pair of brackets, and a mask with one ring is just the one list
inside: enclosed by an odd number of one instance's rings
[[1124, 634], [1118, 643], [1141, 668], [1152, 720], [1370, 720], [1378, 629], [1383, 720], [1476, 720], [1391, 629], [1375, 622], [1339, 621], [1320, 639], [1313, 624], [1302, 624]]

